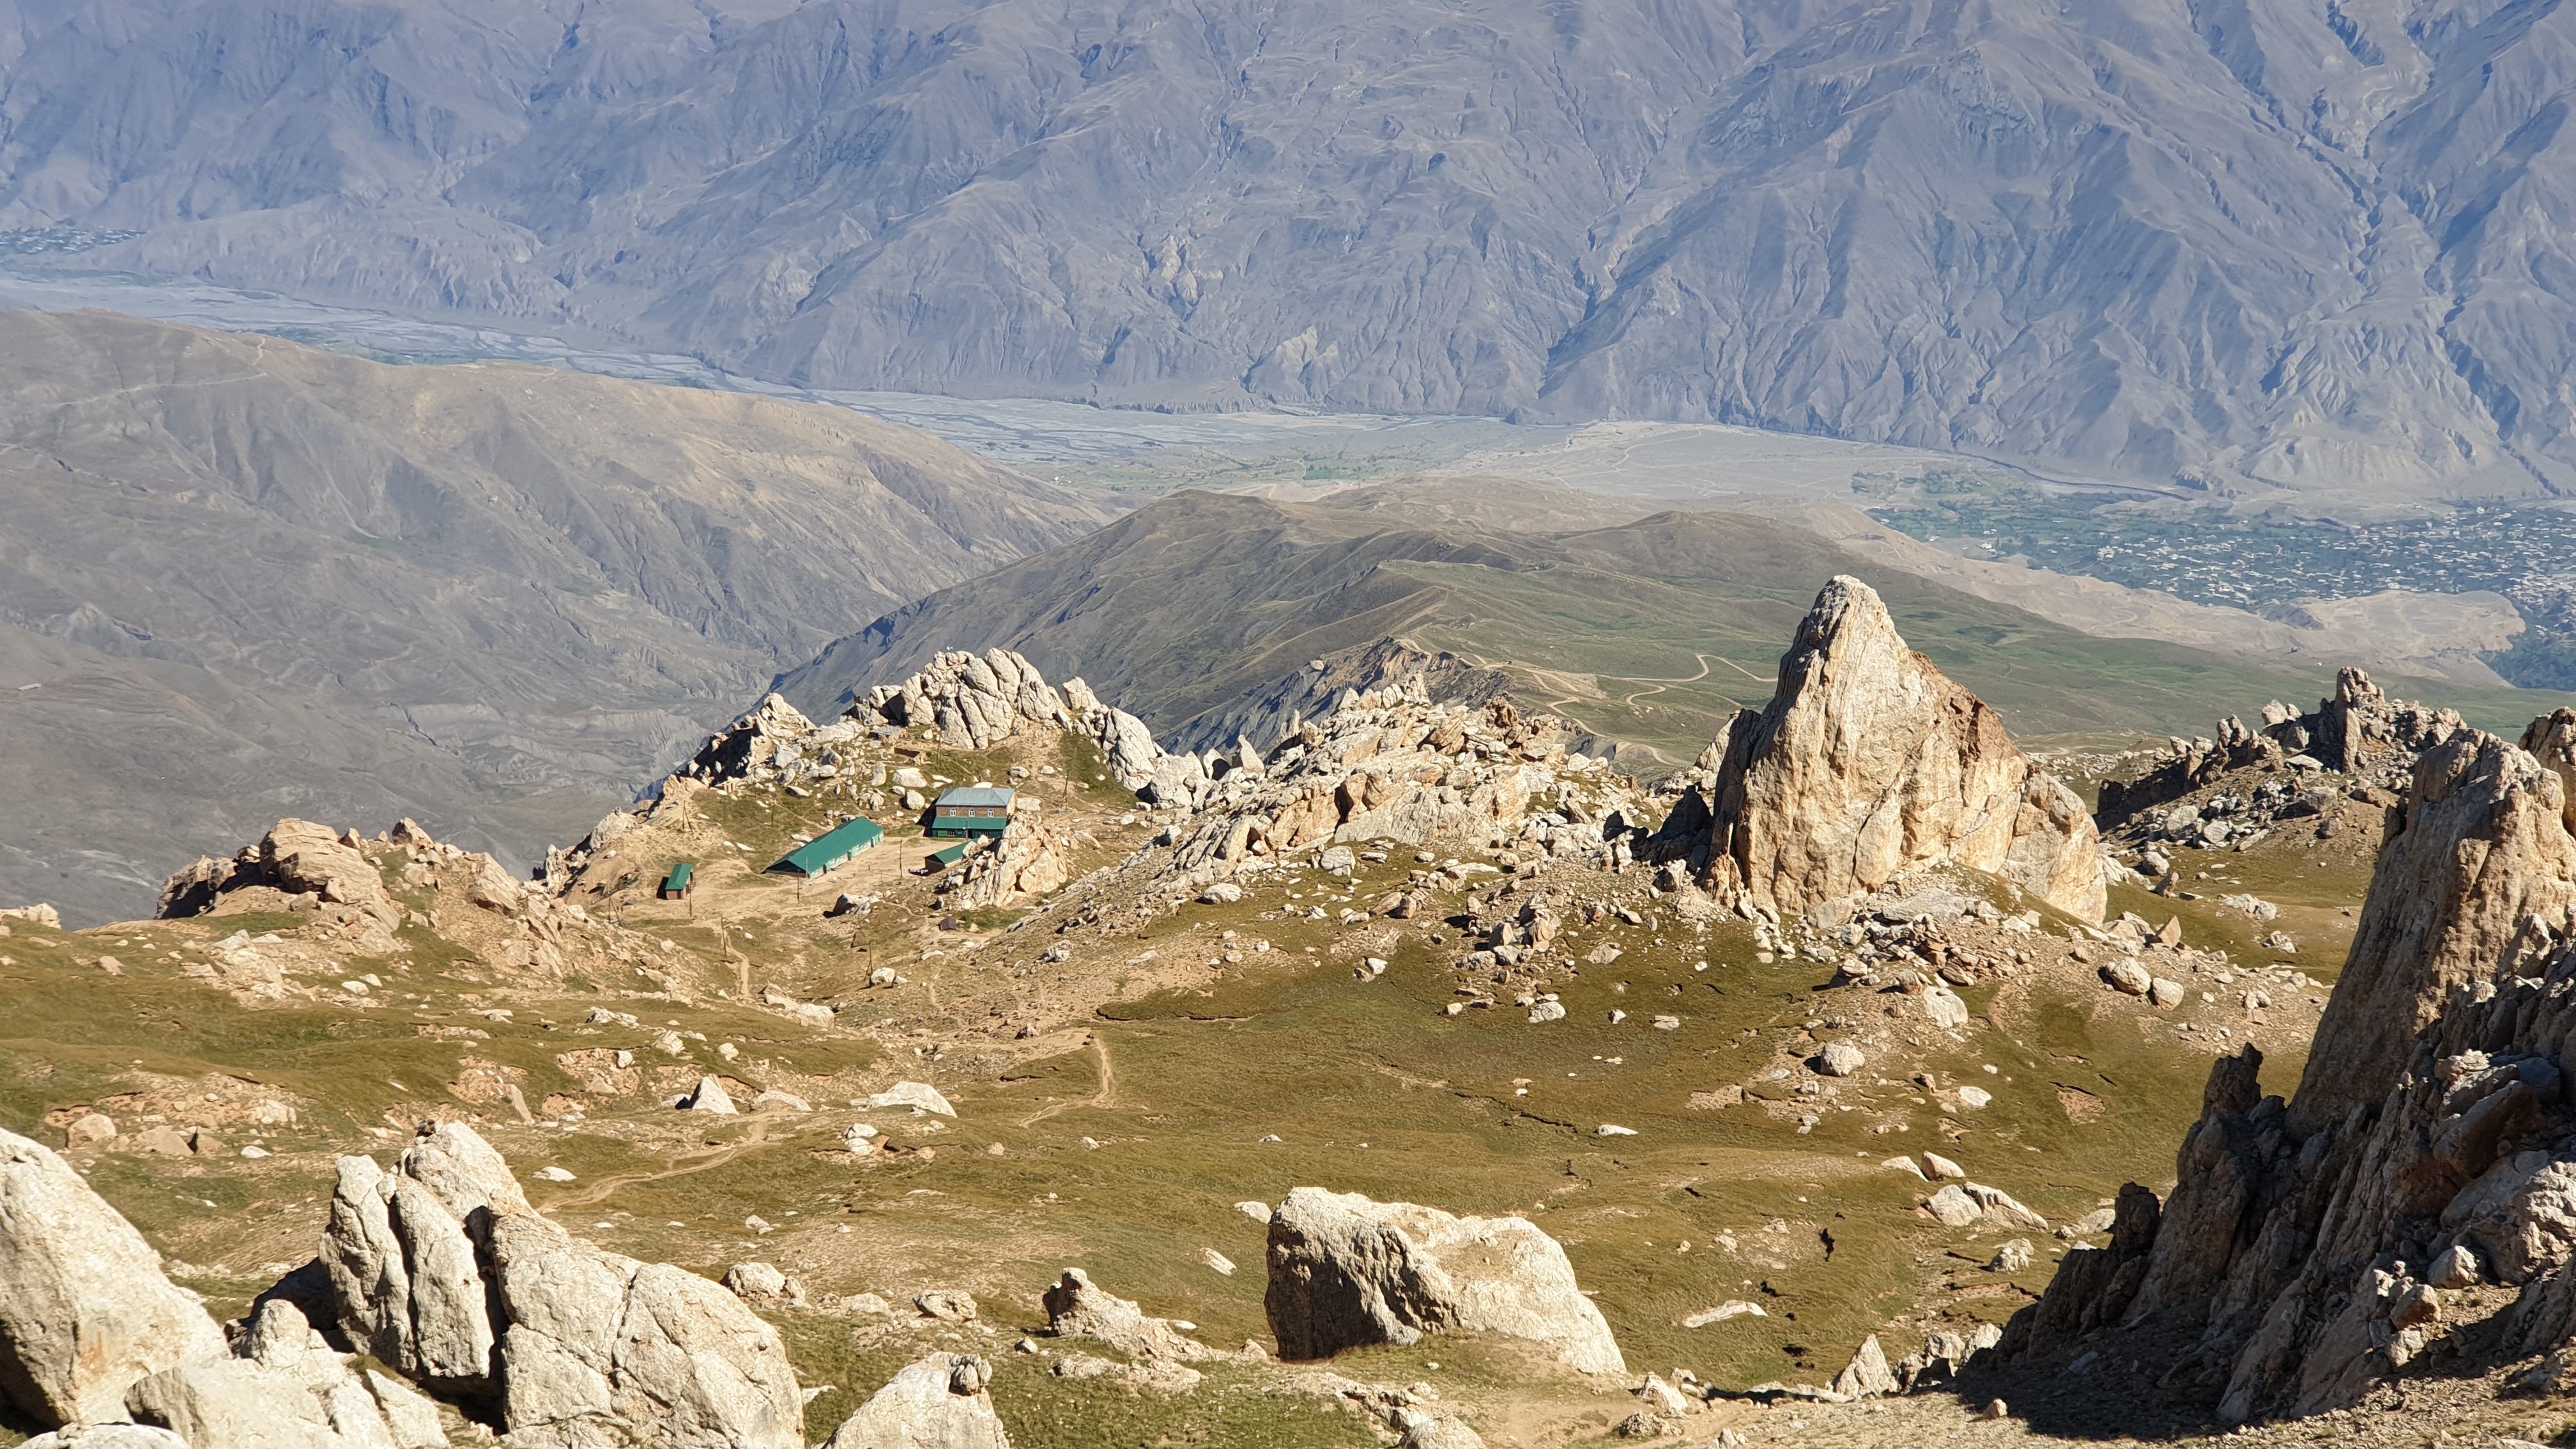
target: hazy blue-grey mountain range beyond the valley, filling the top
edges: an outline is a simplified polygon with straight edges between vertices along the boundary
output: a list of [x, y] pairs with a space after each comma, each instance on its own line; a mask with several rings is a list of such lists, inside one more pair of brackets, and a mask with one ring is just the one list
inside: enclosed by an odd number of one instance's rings
[[0, 227], [829, 387], [2576, 485], [2576, 15], [0, 0]]

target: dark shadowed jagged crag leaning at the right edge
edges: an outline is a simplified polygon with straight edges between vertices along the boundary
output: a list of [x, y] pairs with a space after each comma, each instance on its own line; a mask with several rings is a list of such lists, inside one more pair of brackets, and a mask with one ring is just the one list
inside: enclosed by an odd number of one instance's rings
[[[2050, 1348], [2043, 1323], [2161, 1315], [2200, 1325], [2223, 1418], [2336, 1408], [2424, 1348], [2424, 1274], [2452, 1245], [2524, 1289], [2504, 1351], [2576, 1333], [2566, 784], [2458, 730], [2416, 758], [2401, 820], [2298, 1096], [2262, 1096], [2254, 1049], [2221, 1060], [2143, 1269], [2136, 1232], [2110, 1263], [2071, 1253], [2022, 1346]], [[2094, 1279], [2130, 1271], [2130, 1302], [2084, 1307]]]

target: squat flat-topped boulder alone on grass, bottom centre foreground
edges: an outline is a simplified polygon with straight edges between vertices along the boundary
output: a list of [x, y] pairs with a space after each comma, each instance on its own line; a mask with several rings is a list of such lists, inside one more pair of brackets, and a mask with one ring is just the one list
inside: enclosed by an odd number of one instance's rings
[[1566, 1250], [1520, 1217], [1296, 1189], [1270, 1214], [1262, 1307], [1283, 1359], [1419, 1343], [1425, 1333], [1502, 1333], [1546, 1343], [1584, 1374], [1625, 1372]]

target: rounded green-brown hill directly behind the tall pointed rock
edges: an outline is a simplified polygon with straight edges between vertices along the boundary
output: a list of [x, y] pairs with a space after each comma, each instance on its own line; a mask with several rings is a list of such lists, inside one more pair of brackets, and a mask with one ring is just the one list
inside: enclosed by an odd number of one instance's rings
[[[1172, 740], [1211, 745], [1283, 701], [1303, 699], [1309, 712], [1329, 701], [1352, 652], [1394, 634], [1499, 668], [1525, 704], [1607, 740], [1687, 761], [1726, 712], [1770, 699], [1783, 629], [1837, 572], [1878, 585], [1906, 639], [2004, 709], [2017, 735], [2197, 735], [2215, 709], [2331, 691], [2331, 663], [2264, 665], [2076, 634], [1767, 518], [1489, 529], [1445, 508], [1445, 492], [1355, 490], [1321, 503], [1177, 492], [909, 603], [788, 673], [781, 691], [809, 712], [832, 709], [938, 650], [1002, 645], [1048, 678], [1084, 676]], [[1546, 495], [1522, 503], [1502, 511], [1504, 523], [1546, 516]], [[1321, 683], [1301, 691], [1316, 657], [1327, 660]], [[2499, 719], [2558, 701], [2427, 688]]]

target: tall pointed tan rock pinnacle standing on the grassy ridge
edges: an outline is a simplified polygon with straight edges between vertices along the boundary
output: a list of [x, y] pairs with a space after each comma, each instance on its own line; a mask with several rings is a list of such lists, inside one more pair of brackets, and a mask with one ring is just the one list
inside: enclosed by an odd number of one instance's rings
[[1958, 864], [2102, 918], [2084, 802], [1909, 650], [1857, 578], [1824, 585], [1770, 706], [1736, 714], [1703, 766], [1708, 833], [1687, 848], [1723, 905], [1777, 915]]

